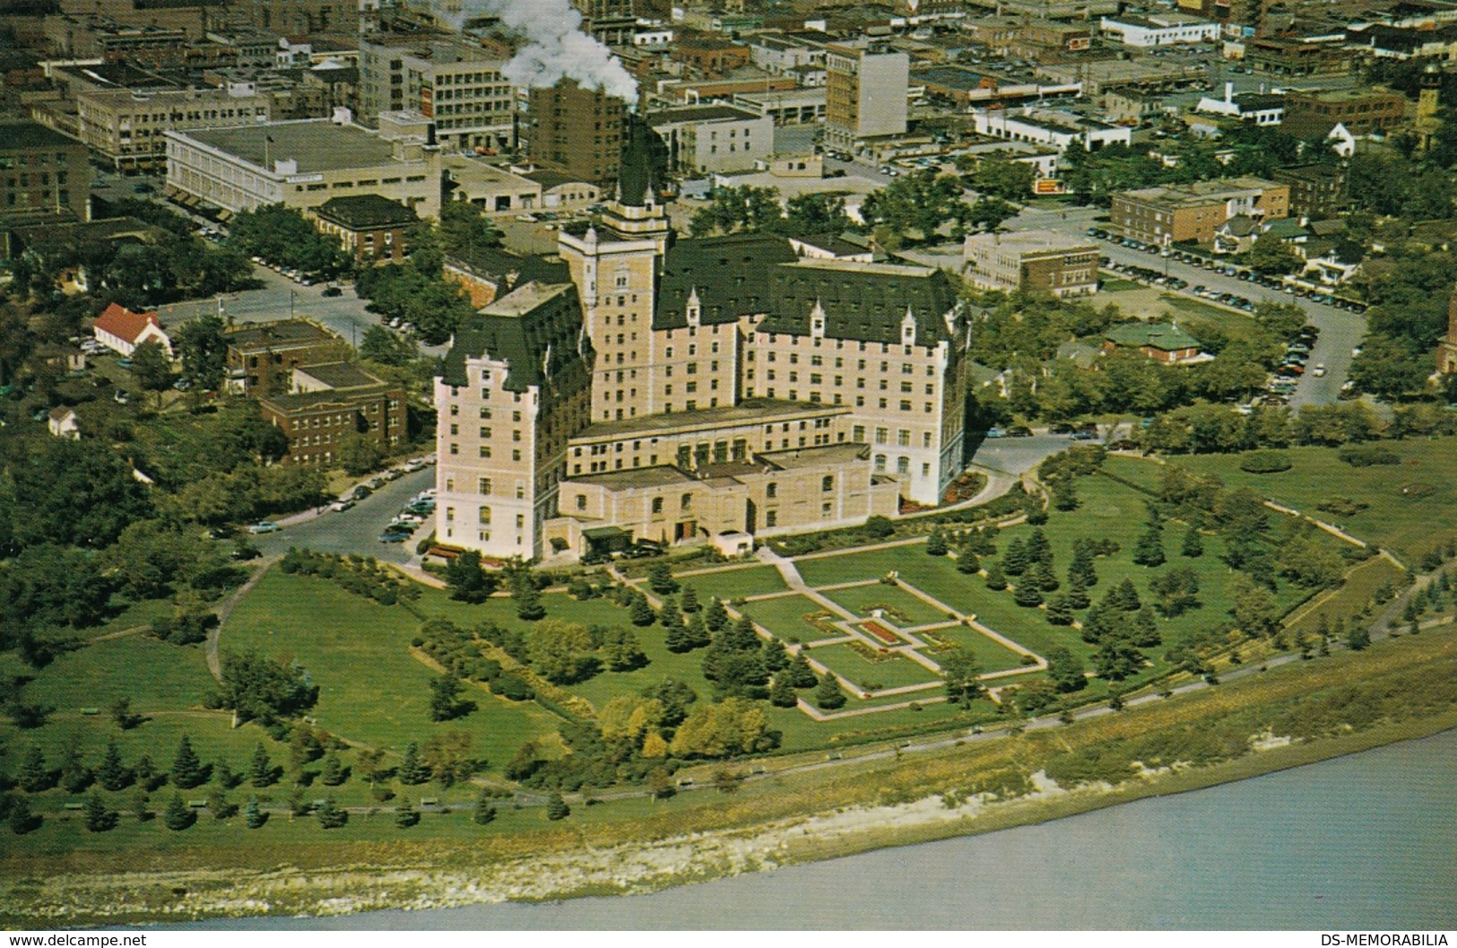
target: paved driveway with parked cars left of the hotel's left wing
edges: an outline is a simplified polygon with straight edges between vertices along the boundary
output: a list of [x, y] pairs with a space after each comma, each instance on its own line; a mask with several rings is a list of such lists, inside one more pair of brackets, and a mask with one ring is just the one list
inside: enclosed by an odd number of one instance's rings
[[288, 547], [307, 547], [319, 553], [358, 553], [388, 563], [408, 563], [414, 559], [415, 543], [430, 535], [433, 521], [421, 524], [415, 535], [405, 543], [380, 543], [379, 535], [415, 494], [434, 484], [436, 468], [425, 467], [399, 480], [386, 481], [383, 487], [342, 513], [325, 510], [313, 519], [252, 540], [265, 556], [286, 553]]

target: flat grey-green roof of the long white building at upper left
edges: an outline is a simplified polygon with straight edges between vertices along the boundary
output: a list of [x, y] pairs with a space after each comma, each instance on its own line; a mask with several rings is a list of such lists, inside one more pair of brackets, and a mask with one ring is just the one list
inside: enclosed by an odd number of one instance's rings
[[404, 165], [395, 159], [393, 146], [358, 125], [337, 125], [328, 118], [264, 123], [237, 128], [197, 128], [172, 133], [214, 147], [256, 168], [293, 159], [297, 174]]

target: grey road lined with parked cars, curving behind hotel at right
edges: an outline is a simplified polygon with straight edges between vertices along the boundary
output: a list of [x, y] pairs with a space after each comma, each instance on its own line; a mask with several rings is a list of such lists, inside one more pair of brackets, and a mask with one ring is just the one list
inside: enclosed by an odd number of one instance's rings
[[[1040, 228], [1081, 236], [1088, 228], [1096, 226], [1094, 217], [1101, 214], [1101, 210], [1093, 207], [1069, 207], [1067, 210], [1026, 209], [1021, 214], [1008, 222], [1007, 226], [1014, 230]], [[1359, 346], [1361, 338], [1365, 335], [1367, 321], [1364, 315], [1345, 309], [1336, 309], [1335, 306], [1326, 306], [1324, 303], [1314, 303], [1308, 299], [1297, 299], [1287, 293], [1281, 293], [1279, 290], [1260, 286], [1259, 283], [1249, 283], [1246, 280], [1237, 280], [1224, 274], [1211, 273], [1209, 270], [1201, 270], [1199, 267], [1179, 263], [1177, 260], [1135, 251], [1109, 241], [1097, 241], [1097, 244], [1100, 246], [1099, 252], [1112, 258], [1115, 263], [1163, 270], [1170, 276], [1187, 280], [1189, 286], [1198, 286], [1202, 283], [1203, 286], [1221, 293], [1236, 293], [1237, 296], [1244, 296], [1256, 303], [1297, 303], [1305, 311], [1307, 319], [1320, 327], [1320, 338], [1316, 340], [1316, 346], [1311, 349], [1307, 366], [1308, 369], [1314, 369], [1317, 365], [1323, 363], [1327, 372], [1323, 378], [1316, 378], [1310, 370], [1307, 370], [1305, 375], [1301, 376], [1300, 384], [1295, 386], [1295, 394], [1291, 397], [1289, 404], [1292, 408], [1298, 408], [1300, 405], [1323, 405], [1336, 401], [1340, 386], [1345, 384], [1351, 372], [1351, 350]], [[1173, 293], [1173, 290], [1166, 292]], [[1199, 299], [1187, 292], [1177, 295], [1187, 296], [1189, 299]], [[1218, 305], [1209, 303], [1209, 300], [1199, 302], [1211, 306]]]

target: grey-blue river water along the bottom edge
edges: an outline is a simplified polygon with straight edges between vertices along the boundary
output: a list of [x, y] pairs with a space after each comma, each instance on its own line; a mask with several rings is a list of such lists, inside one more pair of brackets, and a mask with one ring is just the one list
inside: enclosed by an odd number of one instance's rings
[[1457, 731], [985, 836], [650, 895], [220, 929], [1454, 929]]

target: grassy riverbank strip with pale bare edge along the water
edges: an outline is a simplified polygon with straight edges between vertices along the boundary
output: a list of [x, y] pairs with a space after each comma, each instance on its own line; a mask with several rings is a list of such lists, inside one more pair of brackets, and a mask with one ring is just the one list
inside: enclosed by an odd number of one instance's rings
[[[1423, 633], [1056, 731], [900, 760], [845, 761], [749, 782], [727, 796], [688, 793], [635, 817], [615, 817], [615, 804], [602, 804], [592, 808], [600, 815], [581, 825], [543, 824], [539, 833], [280, 849], [232, 866], [220, 865], [227, 853], [211, 853], [211, 866], [192, 858], [175, 863], [191, 868], [176, 871], [106, 871], [108, 860], [98, 860], [98, 871], [87, 872], [50, 859], [7, 859], [0, 869], [16, 881], [0, 895], [0, 917], [19, 926], [80, 926], [644, 893], [1046, 823], [1435, 734], [1457, 726], [1454, 681], [1457, 636]], [[1362, 707], [1378, 716], [1330, 716], [1332, 709]], [[1189, 744], [1193, 732], [1244, 735], [1246, 751], [1202, 766], [1177, 753], [1150, 757], [1154, 748], [1198, 757], [1203, 751]], [[1128, 770], [1122, 760], [1132, 754], [1148, 758]], [[1067, 776], [1096, 777], [1099, 766], [1132, 776], [1116, 786]], [[1065, 785], [1048, 779], [1048, 770], [1064, 774]]]

